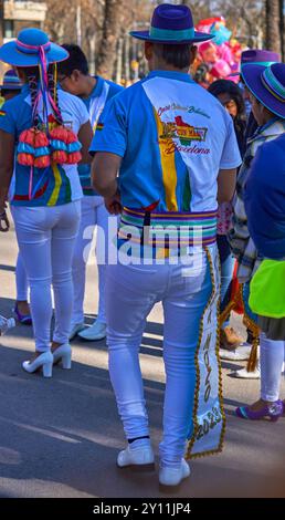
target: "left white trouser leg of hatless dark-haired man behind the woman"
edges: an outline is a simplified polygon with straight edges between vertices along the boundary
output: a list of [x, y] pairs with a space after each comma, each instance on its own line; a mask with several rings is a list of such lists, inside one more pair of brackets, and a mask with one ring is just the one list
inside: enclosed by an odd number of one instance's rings
[[84, 322], [83, 304], [85, 294], [86, 262], [88, 260], [91, 242], [97, 218], [95, 198], [95, 196], [84, 196], [81, 200], [81, 222], [72, 263], [72, 279], [74, 288], [72, 325]]

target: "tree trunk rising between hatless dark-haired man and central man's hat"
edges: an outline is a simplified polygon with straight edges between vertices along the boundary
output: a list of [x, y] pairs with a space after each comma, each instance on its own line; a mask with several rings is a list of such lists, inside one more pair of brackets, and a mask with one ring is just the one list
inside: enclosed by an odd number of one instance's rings
[[112, 79], [120, 22], [120, 0], [106, 0], [97, 73]]

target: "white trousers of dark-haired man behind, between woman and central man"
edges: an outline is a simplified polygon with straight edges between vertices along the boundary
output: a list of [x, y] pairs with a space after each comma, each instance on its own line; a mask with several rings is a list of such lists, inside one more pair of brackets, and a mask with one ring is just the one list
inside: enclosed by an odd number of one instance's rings
[[[96, 195], [87, 195], [82, 199], [81, 226], [74, 249], [72, 278], [74, 287], [74, 306], [72, 315], [72, 324], [84, 322], [84, 294], [86, 263], [91, 251], [91, 242], [94, 236], [94, 229], [97, 225], [104, 231], [105, 242], [108, 237], [108, 211], [105, 208], [104, 198]], [[101, 241], [102, 235], [97, 235], [96, 256], [98, 257], [101, 248], [105, 248], [105, 243]], [[102, 323], [106, 323], [105, 318], [105, 280], [106, 266], [98, 264], [98, 315], [97, 319]], [[95, 291], [95, 287], [94, 287]]]

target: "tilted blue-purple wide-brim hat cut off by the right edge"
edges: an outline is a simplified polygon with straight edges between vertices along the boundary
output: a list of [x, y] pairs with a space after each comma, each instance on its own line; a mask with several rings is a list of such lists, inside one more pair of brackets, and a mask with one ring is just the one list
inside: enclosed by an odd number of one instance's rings
[[256, 100], [273, 114], [285, 119], [285, 64], [244, 65], [242, 76]]

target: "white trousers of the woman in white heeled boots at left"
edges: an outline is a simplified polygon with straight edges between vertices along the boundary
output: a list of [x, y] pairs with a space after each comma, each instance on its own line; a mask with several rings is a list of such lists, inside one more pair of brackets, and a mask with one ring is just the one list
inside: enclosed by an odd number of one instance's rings
[[81, 201], [54, 207], [13, 206], [20, 252], [28, 274], [31, 314], [39, 352], [50, 350], [52, 294], [53, 340], [68, 342], [73, 305], [72, 257], [78, 231]]

